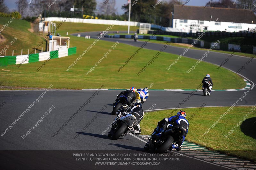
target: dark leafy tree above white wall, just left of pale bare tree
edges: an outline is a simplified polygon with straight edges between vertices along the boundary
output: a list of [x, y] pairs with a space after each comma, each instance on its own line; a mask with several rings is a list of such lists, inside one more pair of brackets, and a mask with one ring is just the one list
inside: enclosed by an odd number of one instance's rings
[[74, 0], [75, 8], [81, 8], [83, 6], [84, 14], [94, 15], [96, 10], [96, 0]]

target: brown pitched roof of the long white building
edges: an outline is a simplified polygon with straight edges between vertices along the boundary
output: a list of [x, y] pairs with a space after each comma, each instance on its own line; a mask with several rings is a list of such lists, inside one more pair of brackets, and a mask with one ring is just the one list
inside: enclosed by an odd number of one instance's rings
[[256, 24], [256, 15], [245, 9], [174, 5], [173, 14], [174, 19], [214, 21], [219, 18], [220, 22]]

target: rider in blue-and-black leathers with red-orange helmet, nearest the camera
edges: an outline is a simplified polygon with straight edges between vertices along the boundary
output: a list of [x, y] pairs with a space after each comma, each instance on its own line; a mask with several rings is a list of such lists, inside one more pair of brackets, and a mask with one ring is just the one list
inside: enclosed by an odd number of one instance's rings
[[[175, 127], [179, 127], [182, 129], [183, 131], [183, 139], [179, 140], [176, 142], [176, 144], [172, 144], [171, 147], [168, 150], [172, 150], [172, 149], [176, 149], [177, 151], [179, 151], [182, 147], [182, 143], [185, 140], [185, 137], [188, 133], [188, 120], [186, 119], [186, 112], [183, 110], [180, 110], [179, 112], [177, 112], [176, 116], [171, 116], [169, 118], [164, 118], [163, 120], [158, 122], [158, 128], [155, 129], [155, 133], [157, 137], [161, 137], [162, 134], [164, 134], [164, 132], [166, 130], [169, 130], [172, 128], [172, 126]], [[154, 134], [154, 133], [153, 133]]]

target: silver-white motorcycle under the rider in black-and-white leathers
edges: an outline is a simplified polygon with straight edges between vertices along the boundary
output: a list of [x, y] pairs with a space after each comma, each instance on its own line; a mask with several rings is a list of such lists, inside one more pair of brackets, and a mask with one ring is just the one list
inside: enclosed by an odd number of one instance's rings
[[108, 132], [108, 137], [117, 140], [121, 135], [126, 136], [125, 134], [131, 132], [131, 130], [133, 129], [132, 126], [135, 120], [136, 117], [134, 115], [126, 112], [120, 112], [111, 124], [111, 129]]

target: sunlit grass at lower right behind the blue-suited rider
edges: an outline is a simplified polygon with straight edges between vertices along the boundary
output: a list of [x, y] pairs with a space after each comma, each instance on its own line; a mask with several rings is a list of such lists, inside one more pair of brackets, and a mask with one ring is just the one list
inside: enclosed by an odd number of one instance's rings
[[[212, 150], [256, 162], [256, 135], [253, 130], [256, 128], [256, 117], [255, 111], [251, 111], [252, 107], [234, 107], [212, 130], [204, 135], [204, 132], [228, 109], [229, 107], [204, 107], [200, 111], [199, 108], [182, 109], [186, 111], [186, 118], [189, 121], [186, 140]], [[251, 114], [247, 113], [249, 111]], [[151, 135], [157, 122], [168, 117], [167, 115], [171, 112], [172, 110], [164, 110], [145, 113], [144, 119], [140, 123], [141, 134]], [[234, 128], [246, 114], [248, 117], [245, 117], [246, 120], [242, 125]], [[233, 133], [226, 138], [225, 135], [232, 128], [234, 128]]]

